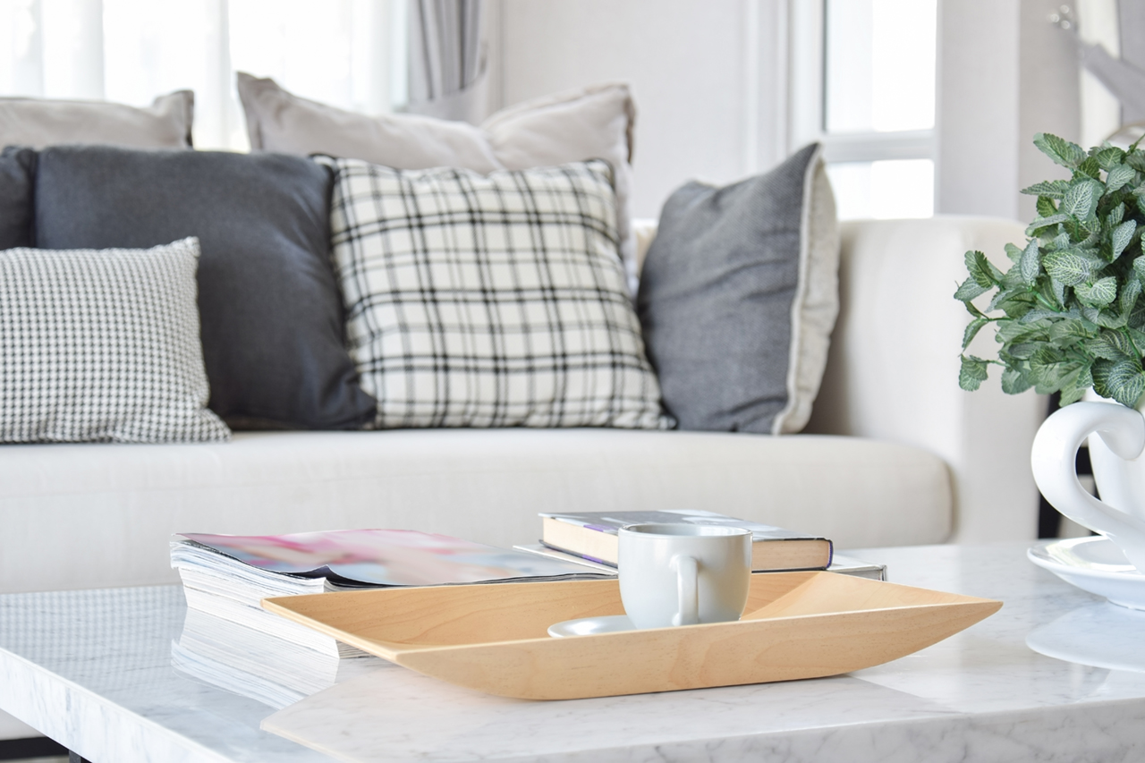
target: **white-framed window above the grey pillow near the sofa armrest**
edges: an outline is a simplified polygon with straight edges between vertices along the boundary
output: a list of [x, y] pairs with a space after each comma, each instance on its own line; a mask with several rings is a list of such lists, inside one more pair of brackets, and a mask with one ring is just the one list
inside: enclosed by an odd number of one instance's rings
[[937, 0], [792, 10], [791, 148], [823, 143], [840, 219], [931, 217]]

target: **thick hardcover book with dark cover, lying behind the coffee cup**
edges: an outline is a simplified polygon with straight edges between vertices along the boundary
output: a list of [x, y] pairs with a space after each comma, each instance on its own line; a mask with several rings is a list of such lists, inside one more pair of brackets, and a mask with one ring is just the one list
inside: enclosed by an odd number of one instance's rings
[[646, 522], [727, 525], [751, 530], [752, 572], [827, 569], [831, 542], [782, 527], [760, 525], [711, 511], [586, 511], [542, 513], [540, 542], [551, 549], [616, 566], [617, 532]]

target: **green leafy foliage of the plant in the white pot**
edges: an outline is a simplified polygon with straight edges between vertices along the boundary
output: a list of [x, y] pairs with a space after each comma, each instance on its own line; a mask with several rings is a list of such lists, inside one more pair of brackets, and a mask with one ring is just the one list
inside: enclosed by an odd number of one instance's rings
[[[1002, 273], [981, 252], [966, 252], [968, 277], [955, 292], [972, 320], [963, 349], [994, 324], [997, 360], [963, 355], [958, 383], [977, 390], [987, 368], [1002, 370], [1011, 394], [1033, 387], [1061, 393], [1061, 404], [1092, 387], [1136, 407], [1145, 392], [1145, 151], [1101, 145], [1084, 151], [1056, 135], [1034, 139], [1073, 173], [1022, 190], [1037, 196], [1026, 245], [1006, 245], [1012, 267]], [[989, 302], [974, 306], [978, 297]]]

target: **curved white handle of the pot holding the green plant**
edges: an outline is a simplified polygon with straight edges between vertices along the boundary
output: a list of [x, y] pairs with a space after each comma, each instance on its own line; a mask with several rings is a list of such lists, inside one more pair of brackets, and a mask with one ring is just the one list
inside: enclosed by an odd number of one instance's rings
[[[1045, 419], [1030, 450], [1034, 481], [1059, 512], [1116, 543], [1130, 564], [1145, 571], [1145, 544], [1134, 553], [1129, 538], [1145, 538], [1145, 522], [1098, 501], [1077, 481], [1077, 448], [1097, 434], [1118, 457], [1131, 461], [1145, 450], [1145, 418], [1120, 403], [1076, 402]], [[1136, 558], [1135, 558], [1136, 557]]]

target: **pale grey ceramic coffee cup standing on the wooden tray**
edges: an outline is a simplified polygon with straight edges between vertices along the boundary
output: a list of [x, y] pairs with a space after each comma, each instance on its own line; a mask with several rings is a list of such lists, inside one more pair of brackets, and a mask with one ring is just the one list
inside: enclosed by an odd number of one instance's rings
[[739, 620], [751, 582], [751, 530], [630, 525], [619, 530], [621, 599], [637, 628]]

